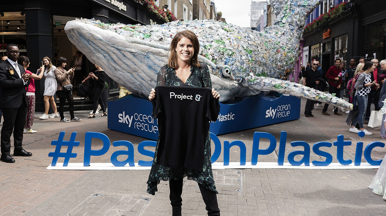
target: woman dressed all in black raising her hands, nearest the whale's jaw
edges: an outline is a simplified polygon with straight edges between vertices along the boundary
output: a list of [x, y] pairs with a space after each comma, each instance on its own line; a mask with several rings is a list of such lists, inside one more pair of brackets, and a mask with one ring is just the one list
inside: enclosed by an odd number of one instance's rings
[[97, 64], [95, 64], [95, 72], [90, 72], [89, 75], [82, 81], [84, 83], [87, 79], [92, 78], [94, 83], [93, 88], [93, 101], [94, 101], [94, 110], [91, 115], [88, 115], [88, 118], [95, 118], [97, 112], [98, 104], [103, 111], [103, 114], [99, 115], [100, 117], [107, 116], [106, 108], [102, 100], [102, 92], [105, 87], [106, 74], [103, 69], [101, 69]]

